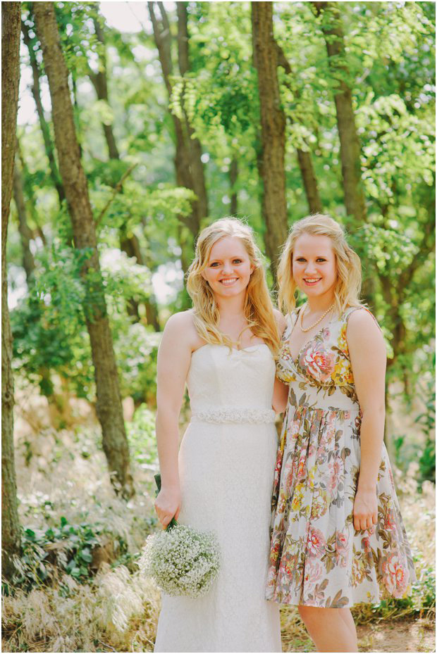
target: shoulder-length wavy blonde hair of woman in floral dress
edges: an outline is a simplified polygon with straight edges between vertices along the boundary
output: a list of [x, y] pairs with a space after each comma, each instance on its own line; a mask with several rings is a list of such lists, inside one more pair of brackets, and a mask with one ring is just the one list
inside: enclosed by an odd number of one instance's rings
[[316, 213], [295, 222], [285, 241], [278, 265], [278, 303], [286, 313], [296, 306], [297, 284], [293, 277], [293, 251], [295, 243], [302, 234], [327, 236], [331, 239], [336, 255], [337, 284], [334, 290], [334, 309], [341, 314], [347, 306], [362, 306], [359, 301], [361, 291], [361, 261], [357, 253], [347, 244], [343, 227], [331, 216]]

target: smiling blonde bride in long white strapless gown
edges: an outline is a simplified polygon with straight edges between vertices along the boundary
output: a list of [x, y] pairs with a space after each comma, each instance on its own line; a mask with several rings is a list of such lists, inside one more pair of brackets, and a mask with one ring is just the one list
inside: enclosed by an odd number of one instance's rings
[[[201, 598], [163, 596], [155, 652], [280, 652], [278, 605], [264, 599], [283, 316], [273, 309], [250, 227], [203, 229], [187, 277], [193, 308], [167, 322], [158, 355], [155, 508], [216, 533], [219, 577]], [[185, 383], [192, 417], [178, 448]], [[272, 409], [273, 406], [273, 409]], [[178, 451], [179, 449], [179, 451]]]

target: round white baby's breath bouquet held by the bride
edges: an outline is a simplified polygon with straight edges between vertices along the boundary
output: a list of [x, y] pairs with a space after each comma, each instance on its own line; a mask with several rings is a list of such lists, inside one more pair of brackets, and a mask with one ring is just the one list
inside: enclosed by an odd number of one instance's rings
[[[160, 489], [160, 476], [155, 479]], [[219, 572], [219, 558], [213, 533], [199, 532], [173, 518], [165, 531], [148, 536], [138, 565], [164, 593], [196, 598], [211, 588]]]

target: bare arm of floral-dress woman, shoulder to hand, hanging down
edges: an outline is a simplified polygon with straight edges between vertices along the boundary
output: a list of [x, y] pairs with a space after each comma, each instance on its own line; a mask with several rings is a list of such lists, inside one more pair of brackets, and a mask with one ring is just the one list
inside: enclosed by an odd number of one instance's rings
[[386, 415], [386, 346], [381, 329], [365, 310], [350, 315], [346, 340], [362, 410], [361, 464], [355, 494], [354, 527], [368, 529], [371, 524], [376, 524], [378, 518], [376, 482]]

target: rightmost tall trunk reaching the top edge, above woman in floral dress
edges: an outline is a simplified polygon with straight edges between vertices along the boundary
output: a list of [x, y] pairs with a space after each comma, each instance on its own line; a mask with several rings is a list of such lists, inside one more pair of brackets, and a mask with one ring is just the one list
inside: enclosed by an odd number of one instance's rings
[[321, 29], [324, 33], [328, 65], [338, 89], [334, 92], [336, 102], [340, 158], [348, 215], [357, 225], [367, 221], [367, 209], [361, 181], [361, 148], [355, 115], [352, 108], [352, 91], [345, 80], [349, 75], [345, 54], [345, 37], [340, 20], [341, 6], [331, 2], [313, 2], [317, 15], [322, 14]]

